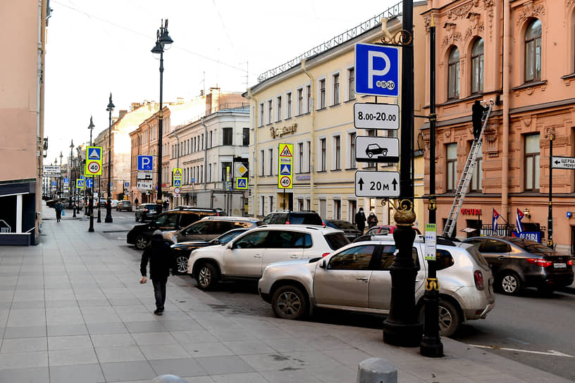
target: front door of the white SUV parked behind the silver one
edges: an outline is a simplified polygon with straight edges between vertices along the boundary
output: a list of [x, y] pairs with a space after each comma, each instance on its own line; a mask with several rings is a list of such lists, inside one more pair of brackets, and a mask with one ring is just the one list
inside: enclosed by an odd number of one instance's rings
[[261, 263], [266, 252], [268, 230], [248, 232], [226, 246], [222, 272], [233, 277], [261, 277]]

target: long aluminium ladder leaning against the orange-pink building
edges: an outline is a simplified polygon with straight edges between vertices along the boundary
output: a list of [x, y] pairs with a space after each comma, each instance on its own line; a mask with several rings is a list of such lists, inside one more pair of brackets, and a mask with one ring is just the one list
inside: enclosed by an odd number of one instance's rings
[[476, 166], [477, 153], [481, 150], [481, 143], [483, 142], [483, 131], [487, 126], [487, 120], [491, 113], [491, 108], [493, 107], [493, 100], [490, 100], [489, 108], [483, 113], [481, 126], [481, 133], [478, 139], [474, 139], [473, 144], [471, 144], [471, 150], [467, 156], [467, 161], [463, 168], [462, 177], [459, 179], [459, 184], [457, 184], [457, 189], [455, 191], [455, 198], [451, 205], [451, 210], [447, 216], [447, 221], [445, 222], [445, 227], [443, 228], [443, 237], [451, 237], [455, 225], [457, 224], [457, 217], [459, 216], [459, 210], [462, 207], [463, 200], [467, 194], [467, 189], [469, 189], [469, 182], [471, 182], [471, 177], [473, 177], [473, 171]]

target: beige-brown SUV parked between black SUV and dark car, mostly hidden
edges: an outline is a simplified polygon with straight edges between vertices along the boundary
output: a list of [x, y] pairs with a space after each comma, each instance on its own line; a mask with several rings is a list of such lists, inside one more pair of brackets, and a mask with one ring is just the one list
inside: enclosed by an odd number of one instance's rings
[[177, 244], [184, 241], [209, 241], [218, 235], [240, 227], [258, 227], [264, 222], [250, 217], [218, 217], [207, 216], [199, 221], [187, 225], [181, 230], [168, 230], [163, 232], [163, 239], [169, 244]]

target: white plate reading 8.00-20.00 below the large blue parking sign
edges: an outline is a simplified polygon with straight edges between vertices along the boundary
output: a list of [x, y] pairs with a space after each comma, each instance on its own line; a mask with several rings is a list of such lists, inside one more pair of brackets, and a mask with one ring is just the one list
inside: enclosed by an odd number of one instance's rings
[[358, 129], [400, 129], [400, 106], [390, 103], [354, 103]]

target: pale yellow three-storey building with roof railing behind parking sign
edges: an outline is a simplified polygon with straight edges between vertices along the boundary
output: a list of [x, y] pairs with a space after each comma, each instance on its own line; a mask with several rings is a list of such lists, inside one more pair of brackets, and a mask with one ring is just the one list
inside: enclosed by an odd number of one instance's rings
[[[423, 12], [425, 2], [415, 4], [414, 15]], [[354, 127], [354, 103], [398, 103], [391, 97], [355, 94], [357, 73], [354, 44], [381, 42], [387, 33], [401, 29], [400, 6], [388, 9], [358, 27], [261, 75], [259, 84], [248, 89], [252, 125], [249, 146], [250, 213], [263, 217], [280, 209], [314, 210], [323, 219], [354, 222], [363, 207], [374, 211], [379, 224], [393, 224], [393, 211], [384, 199], [355, 195], [356, 170], [397, 170], [395, 164], [357, 163], [355, 139], [358, 136], [390, 135], [395, 132]], [[388, 20], [382, 30], [381, 18]], [[414, 44], [424, 46], [423, 20], [414, 25]], [[416, 114], [423, 113], [423, 54], [415, 49]], [[420, 113], [417, 113], [417, 112]], [[422, 122], [416, 120], [416, 126]], [[419, 140], [421, 141], [421, 139]], [[279, 144], [293, 145], [292, 189], [278, 188]], [[405, 155], [408, 155], [407, 153]], [[416, 196], [423, 195], [423, 156], [416, 158]], [[423, 204], [416, 200], [416, 215]], [[423, 220], [417, 222], [423, 225]]]

